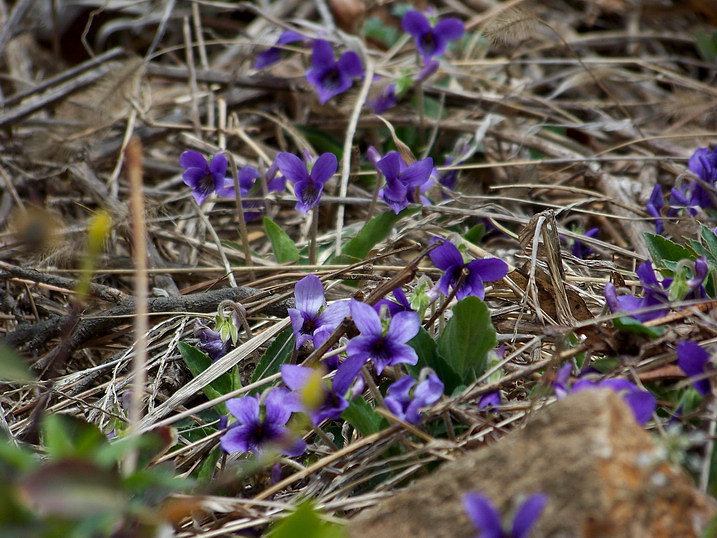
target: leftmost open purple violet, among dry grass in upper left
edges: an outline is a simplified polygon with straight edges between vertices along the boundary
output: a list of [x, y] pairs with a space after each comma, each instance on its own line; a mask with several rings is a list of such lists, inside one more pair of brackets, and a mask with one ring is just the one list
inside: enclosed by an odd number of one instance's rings
[[184, 151], [179, 156], [179, 164], [185, 169], [182, 179], [185, 185], [192, 188], [192, 196], [197, 204], [202, 205], [213, 192], [217, 196], [234, 196], [232, 181], [226, 177], [227, 158], [217, 153], [207, 163], [207, 159], [197, 151]]

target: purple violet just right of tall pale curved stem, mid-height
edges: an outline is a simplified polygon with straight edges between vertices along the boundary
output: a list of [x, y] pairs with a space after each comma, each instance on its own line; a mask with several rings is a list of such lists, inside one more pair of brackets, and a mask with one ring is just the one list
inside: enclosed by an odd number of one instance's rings
[[433, 159], [428, 157], [407, 166], [397, 151], [391, 151], [376, 163], [376, 167], [386, 178], [379, 196], [398, 214], [408, 206], [412, 191], [430, 179]]

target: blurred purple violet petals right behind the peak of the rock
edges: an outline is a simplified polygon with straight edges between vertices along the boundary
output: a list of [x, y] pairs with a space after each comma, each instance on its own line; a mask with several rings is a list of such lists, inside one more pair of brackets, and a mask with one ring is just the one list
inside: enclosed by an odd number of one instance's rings
[[657, 400], [650, 391], [642, 390], [627, 379], [615, 378], [595, 381], [582, 378], [569, 386], [568, 380], [571, 368], [572, 365], [565, 364], [555, 376], [553, 389], [558, 399], [564, 398], [569, 393], [580, 392], [581, 390], [610, 389], [622, 396], [623, 401], [630, 407], [635, 420], [640, 426], [647, 424], [647, 421], [650, 420], [652, 413], [657, 408]]

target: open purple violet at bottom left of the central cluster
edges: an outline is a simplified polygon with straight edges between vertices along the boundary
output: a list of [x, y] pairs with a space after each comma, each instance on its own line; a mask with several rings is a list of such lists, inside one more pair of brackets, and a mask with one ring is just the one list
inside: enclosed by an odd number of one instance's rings
[[221, 438], [226, 452], [261, 453], [278, 446], [287, 456], [299, 456], [306, 442], [295, 438], [286, 423], [294, 411], [301, 411], [296, 395], [284, 388], [271, 390], [262, 397], [244, 396], [227, 400], [227, 409], [237, 418]]

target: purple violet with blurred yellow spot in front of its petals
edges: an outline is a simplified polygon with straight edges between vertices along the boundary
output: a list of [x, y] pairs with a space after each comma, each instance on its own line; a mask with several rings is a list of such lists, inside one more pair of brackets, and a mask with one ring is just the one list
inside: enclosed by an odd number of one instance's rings
[[[314, 409], [303, 409], [314, 425], [318, 425], [324, 420], [336, 420], [349, 406], [349, 401], [361, 394], [364, 382], [359, 372], [364, 363], [365, 360], [360, 357], [349, 357], [339, 364], [331, 387], [327, 385], [326, 381], [321, 381], [322, 397], [318, 406]], [[311, 383], [312, 376], [315, 375], [320, 375], [320, 371], [317, 372], [306, 366], [284, 364], [281, 367], [281, 377], [284, 383], [299, 396], [299, 401], [310, 399], [310, 397], [305, 398], [304, 391], [307, 390], [307, 385]]]

